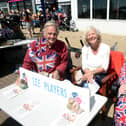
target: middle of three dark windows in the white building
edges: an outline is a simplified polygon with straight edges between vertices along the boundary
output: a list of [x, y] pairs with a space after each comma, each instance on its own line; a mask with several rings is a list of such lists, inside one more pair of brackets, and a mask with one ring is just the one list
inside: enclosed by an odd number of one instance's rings
[[107, 0], [93, 0], [93, 18], [106, 19]]

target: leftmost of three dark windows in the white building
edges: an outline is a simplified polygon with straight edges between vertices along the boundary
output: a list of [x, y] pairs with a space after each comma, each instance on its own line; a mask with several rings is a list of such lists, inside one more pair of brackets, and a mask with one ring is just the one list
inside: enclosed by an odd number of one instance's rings
[[78, 0], [78, 18], [90, 18], [90, 0]]

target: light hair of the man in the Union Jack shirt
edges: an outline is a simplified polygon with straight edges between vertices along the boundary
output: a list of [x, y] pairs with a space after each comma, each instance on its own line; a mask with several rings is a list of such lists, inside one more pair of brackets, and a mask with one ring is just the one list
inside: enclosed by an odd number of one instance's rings
[[46, 28], [49, 27], [49, 26], [55, 26], [56, 31], [57, 31], [57, 35], [59, 34], [59, 28], [58, 28], [56, 22], [54, 20], [51, 20], [51, 21], [46, 22], [45, 25], [44, 25], [44, 29], [43, 29], [44, 35], [46, 34]]

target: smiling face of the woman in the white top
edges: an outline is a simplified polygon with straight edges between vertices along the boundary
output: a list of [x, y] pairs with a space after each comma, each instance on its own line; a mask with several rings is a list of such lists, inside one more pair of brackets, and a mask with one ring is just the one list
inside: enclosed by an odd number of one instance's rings
[[89, 44], [95, 44], [98, 42], [98, 36], [95, 30], [92, 29], [87, 33], [87, 40]]

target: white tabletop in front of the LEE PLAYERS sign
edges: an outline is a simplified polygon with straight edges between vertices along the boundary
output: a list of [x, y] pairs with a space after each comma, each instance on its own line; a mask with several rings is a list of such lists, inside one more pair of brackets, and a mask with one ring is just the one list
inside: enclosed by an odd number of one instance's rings
[[[18, 95], [9, 95], [12, 89], [18, 89], [18, 87], [11, 84], [0, 89], [0, 108], [24, 126], [52, 126], [52, 122], [55, 122], [54, 120], [64, 111], [64, 102], [57, 100], [54, 95], [46, 92], [36, 93], [35, 90], [32, 91], [29, 88], [21, 90]], [[107, 101], [106, 97], [98, 94], [91, 98], [95, 100], [94, 104], [91, 102], [91, 111], [83, 112], [70, 126], [87, 126]], [[32, 103], [34, 109], [32, 111], [22, 110], [22, 105], [26, 103]], [[47, 114], [47, 111], [50, 114]]]

